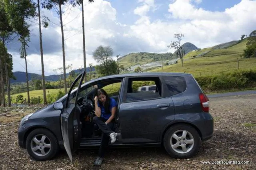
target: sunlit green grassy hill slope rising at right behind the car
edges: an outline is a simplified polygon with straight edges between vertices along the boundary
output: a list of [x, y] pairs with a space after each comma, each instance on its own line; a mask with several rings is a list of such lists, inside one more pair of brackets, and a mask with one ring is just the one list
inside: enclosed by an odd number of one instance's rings
[[[246, 49], [247, 39], [236, 45], [223, 49], [214, 49], [213, 47], [192, 51], [184, 56], [183, 67], [179, 60], [177, 64], [167, 65], [162, 68], [153, 69], [157, 72], [186, 72], [198, 75], [213, 75], [222, 72], [238, 70], [256, 69], [256, 58], [242, 58]], [[194, 56], [194, 57], [193, 57]]]

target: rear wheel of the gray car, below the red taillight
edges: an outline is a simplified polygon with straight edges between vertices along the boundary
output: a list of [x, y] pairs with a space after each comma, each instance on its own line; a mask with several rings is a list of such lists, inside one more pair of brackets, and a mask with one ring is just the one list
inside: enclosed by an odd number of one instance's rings
[[[187, 132], [186, 136], [184, 132]], [[198, 152], [201, 146], [201, 138], [195, 128], [189, 125], [179, 124], [170, 127], [166, 131], [163, 143], [165, 150], [171, 157], [191, 158]]]

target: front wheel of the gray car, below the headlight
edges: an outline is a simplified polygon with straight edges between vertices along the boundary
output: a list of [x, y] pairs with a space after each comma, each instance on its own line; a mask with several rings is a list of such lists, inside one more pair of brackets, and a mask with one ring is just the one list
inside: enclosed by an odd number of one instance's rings
[[52, 132], [44, 128], [38, 128], [28, 134], [26, 149], [35, 160], [50, 160], [57, 154], [59, 146]]

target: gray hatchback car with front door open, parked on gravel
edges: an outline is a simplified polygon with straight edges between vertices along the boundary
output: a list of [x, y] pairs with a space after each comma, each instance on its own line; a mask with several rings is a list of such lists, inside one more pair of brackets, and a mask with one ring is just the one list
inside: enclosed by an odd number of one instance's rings
[[[132, 73], [82, 84], [84, 75], [67, 95], [20, 122], [18, 143], [35, 160], [51, 159], [65, 149], [72, 161], [78, 148], [100, 146], [101, 132], [93, 122], [97, 88], [118, 103], [113, 127], [118, 136], [110, 147], [164, 146], [172, 157], [190, 158], [213, 135], [209, 100], [191, 74]], [[138, 91], [145, 85], [156, 89]]]

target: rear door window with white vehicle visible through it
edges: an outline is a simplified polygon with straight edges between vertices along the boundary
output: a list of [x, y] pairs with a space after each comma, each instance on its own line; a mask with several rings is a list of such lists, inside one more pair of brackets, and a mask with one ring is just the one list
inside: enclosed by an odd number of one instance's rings
[[126, 101], [158, 99], [162, 96], [161, 85], [158, 77], [130, 78]]

